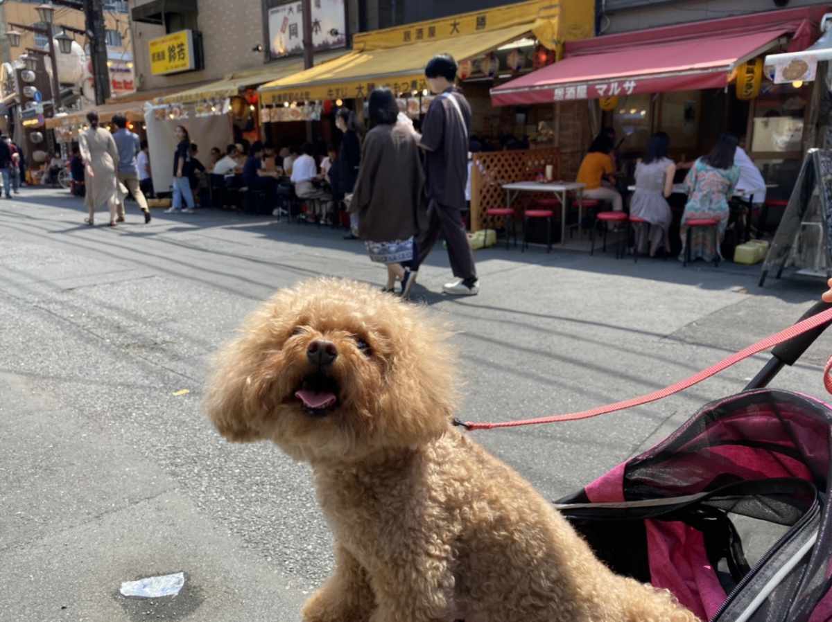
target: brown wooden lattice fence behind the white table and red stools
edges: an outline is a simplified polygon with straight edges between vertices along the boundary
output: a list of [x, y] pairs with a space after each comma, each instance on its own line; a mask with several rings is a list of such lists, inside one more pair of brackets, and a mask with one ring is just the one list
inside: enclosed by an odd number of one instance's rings
[[[506, 191], [503, 184], [514, 181], [534, 181], [552, 165], [554, 179], [561, 174], [560, 151], [555, 148], [529, 149], [526, 151], [493, 151], [473, 154], [471, 166], [471, 230], [496, 229], [503, 225], [502, 218], [485, 214], [486, 210], [505, 207]], [[512, 207], [519, 215], [535, 198], [530, 192], [522, 192]]]

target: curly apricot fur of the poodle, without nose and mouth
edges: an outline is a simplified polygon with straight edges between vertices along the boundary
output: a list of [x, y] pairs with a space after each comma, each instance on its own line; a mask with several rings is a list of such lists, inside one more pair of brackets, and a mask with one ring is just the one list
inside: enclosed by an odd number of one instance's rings
[[[337, 348], [339, 401], [323, 414], [295, 397], [316, 339]], [[334, 531], [334, 575], [305, 622], [694, 622], [669, 592], [614, 575], [451, 425], [455, 372], [422, 309], [335, 279], [278, 292], [218, 354], [211, 420], [310, 462]]]

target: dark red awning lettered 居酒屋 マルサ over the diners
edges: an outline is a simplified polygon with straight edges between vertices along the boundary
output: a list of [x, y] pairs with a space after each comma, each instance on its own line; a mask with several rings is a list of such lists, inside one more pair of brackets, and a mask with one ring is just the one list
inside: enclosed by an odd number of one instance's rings
[[[780, 14], [774, 19], [768, 17]], [[566, 46], [566, 57], [492, 89], [495, 106], [721, 88], [742, 62], [808, 29], [805, 9], [731, 17], [686, 27], [597, 37]]]

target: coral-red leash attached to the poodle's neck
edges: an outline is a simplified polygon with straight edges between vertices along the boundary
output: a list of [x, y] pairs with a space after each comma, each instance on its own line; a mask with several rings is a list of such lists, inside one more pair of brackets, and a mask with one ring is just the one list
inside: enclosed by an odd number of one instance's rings
[[[813, 328], [817, 328], [821, 324], [827, 323], [830, 320], [832, 320], [832, 309], [826, 309], [822, 313], [813, 315], [811, 318], [806, 318], [802, 322], [796, 323], [794, 326], [781, 330], [780, 333], [770, 335], [762, 341], [759, 341], [744, 350], [740, 350], [740, 352], [731, 354], [730, 357], [724, 358], [719, 363], [716, 363], [716, 365], [712, 365], [710, 368], [694, 374], [691, 378], [686, 378], [676, 384], [671, 384], [670, 387], [665, 387], [663, 389], [659, 389], [658, 391], [647, 393], [641, 397], [632, 397], [631, 399], [624, 400], [623, 402], [615, 402], [614, 404], [607, 404], [607, 406], [599, 406], [582, 412], [569, 412], [563, 415], [552, 415], [551, 417], [538, 417], [537, 419], [523, 419], [521, 421], [507, 421], [499, 423], [460, 422], [458, 420], [454, 420], [454, 424], [463, 426], [468, 430], [491, 430], [494, 427], [518, 427], [531, 426], [537, 423], [577, 421], [579, 419], [589, 419], [592, 417], [598, 417], [599, 415], [606, 415], [608, 412], [626, 410], [627, 408], [641, 406], [641, 404], [656, 402], [660, 399], [664, 399], [665, 397], [669, 397], [674, 393], [684, 391], [686, 388], [690, 388], [695, 384], [701, 383], [703, 380], [711, 378], [711, 376], [715, 376], [717, 373], [730, 368], [731, 365], [735, 365], [745, 358], [749, 358], [750, 356], [763, 352], [769, 348], [774, 348], [776, 345], [789, 341], [800, 334], [808, 333]], [[830, 377], [830, 371], [832, 371], [832, 358], [830, 358], [829, 362], [826, 363], [826, 368], [824, 370], [824, 386], [827, 391], [832, 393], [832, 377]]]

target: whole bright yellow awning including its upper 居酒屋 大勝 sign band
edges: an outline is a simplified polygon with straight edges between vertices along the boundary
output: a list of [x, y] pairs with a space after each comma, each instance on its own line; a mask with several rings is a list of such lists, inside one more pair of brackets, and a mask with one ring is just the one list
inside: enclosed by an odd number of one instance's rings
[[457, 61], [482, 56], [532, 32], [542, 45], [592, 37], [594, 3], [587, 0], [527, 0], [450, 17], [362, 32], [353, 52], [260, 87], [266, 104], [352, 99], [374, 86], [397, 93], [422, 91], [424, 67], [443, 52]]

